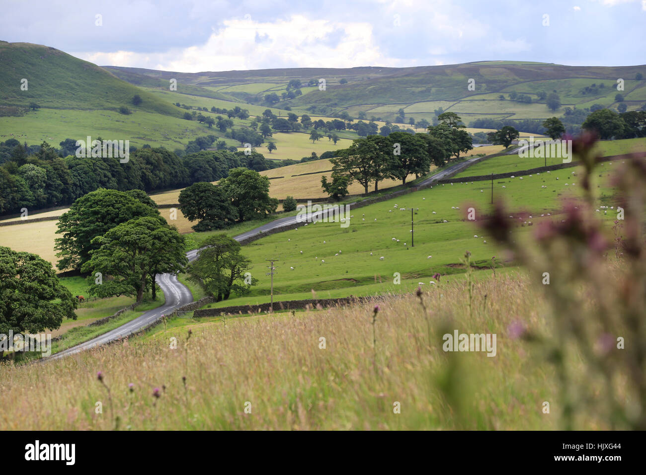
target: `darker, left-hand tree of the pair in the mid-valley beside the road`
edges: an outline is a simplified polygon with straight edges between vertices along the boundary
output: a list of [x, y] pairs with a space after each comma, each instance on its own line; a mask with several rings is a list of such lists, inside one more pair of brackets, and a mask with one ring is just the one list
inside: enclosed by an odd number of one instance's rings
[[201, 182], [180, 192], [180, 209], [189, 221], [198, 221], [195, 231], [222, 229], [236, 220], [236, 210], [231, 206], [222, 187]]

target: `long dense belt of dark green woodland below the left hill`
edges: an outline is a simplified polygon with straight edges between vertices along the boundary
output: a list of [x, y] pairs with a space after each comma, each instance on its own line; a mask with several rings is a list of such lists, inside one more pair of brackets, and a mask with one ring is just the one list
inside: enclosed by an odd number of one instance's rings
[[65, 206], [99, 188], [151, 193], [220, 180], [238, 167], [264, 171], [283, 165], [253, 149], [251, 153], [205, 150], [211, 147], [211, 138], [191, 141], [187, 145], [191, 153], [181, 158], [161, 147], [131, 149], [126, 163], [119, 158], [79, 158], [72, 139], [61, 142], [59, 150], [47, 142], [34, 147], [9, 139], [0, 143], [0, 160], [6, 160], [0, 164], [0, 215]]

